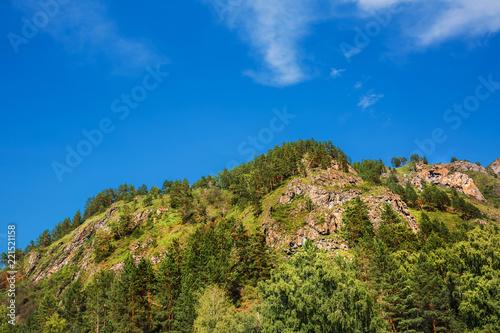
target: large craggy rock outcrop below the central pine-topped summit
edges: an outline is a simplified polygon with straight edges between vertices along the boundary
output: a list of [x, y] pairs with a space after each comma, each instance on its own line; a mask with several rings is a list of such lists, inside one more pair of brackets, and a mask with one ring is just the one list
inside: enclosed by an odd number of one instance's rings
[[408, 227], [417, 232], [418, 226], [414, 216], [397, 194], [381, 187], [377, 189], [376, 194], [364, 195], [361, 189], [356, 188], [356, 185], [362, 183], [362, 179], [356, 174], [343, 173], [333, 168], [319, 173], [311, 172], [306, 181], [300, 178], [291, 180], [274, 205], [291, 204], [299, 196], [309, 199], [313, 207], [309, 207], [310, 211], [305, 218], [303, 213], [302, 217], [298, 217], [305, 209], [303, 206], [290, 213], [292, 219], [303, 219], [300, 227], [291, 233], [284, 232], [280, 225], [273, 220], [272, 207], [264, 212], [262, 228], [268, 245], [293, 252], [309, 239], [316, 246], [327, 251], [347, 250], [348, 246], [339, 237], [338, 232], [342, 229], [344, 204], [356, 197], [361, 197], [367, 204], [369, 217], [375, 229], [378, 229], [382, 220], [382, 208], [385, 203], [388, 203], [408, 223]]

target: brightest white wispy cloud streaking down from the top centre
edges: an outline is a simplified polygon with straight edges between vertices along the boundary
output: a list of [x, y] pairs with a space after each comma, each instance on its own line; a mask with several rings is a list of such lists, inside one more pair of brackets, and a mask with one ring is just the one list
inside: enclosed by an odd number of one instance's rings
[[287, 86], [307, 79], [300, 42], [319, 19], [314, 0], [252, 0], [211, 2], [219, 18], [238, 30], [263, 60], [264, 68], [247, 70], [254, 80]]

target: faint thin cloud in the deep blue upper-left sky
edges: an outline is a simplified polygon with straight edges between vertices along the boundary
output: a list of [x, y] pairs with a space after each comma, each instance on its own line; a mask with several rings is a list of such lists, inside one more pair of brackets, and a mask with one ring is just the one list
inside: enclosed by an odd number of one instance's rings
[[[34, 0], [18, 1], [15, 5], [26, 13], [40, 11]], [[106, 6], [94, 0], [60, 5], [43, 31], [62, 43], [69, 53], [84, 55], [86, 61], [106, 56], [115, 74], [134, 74], [148, 65], [168, 62], [150, 41], [121, 33]]]

